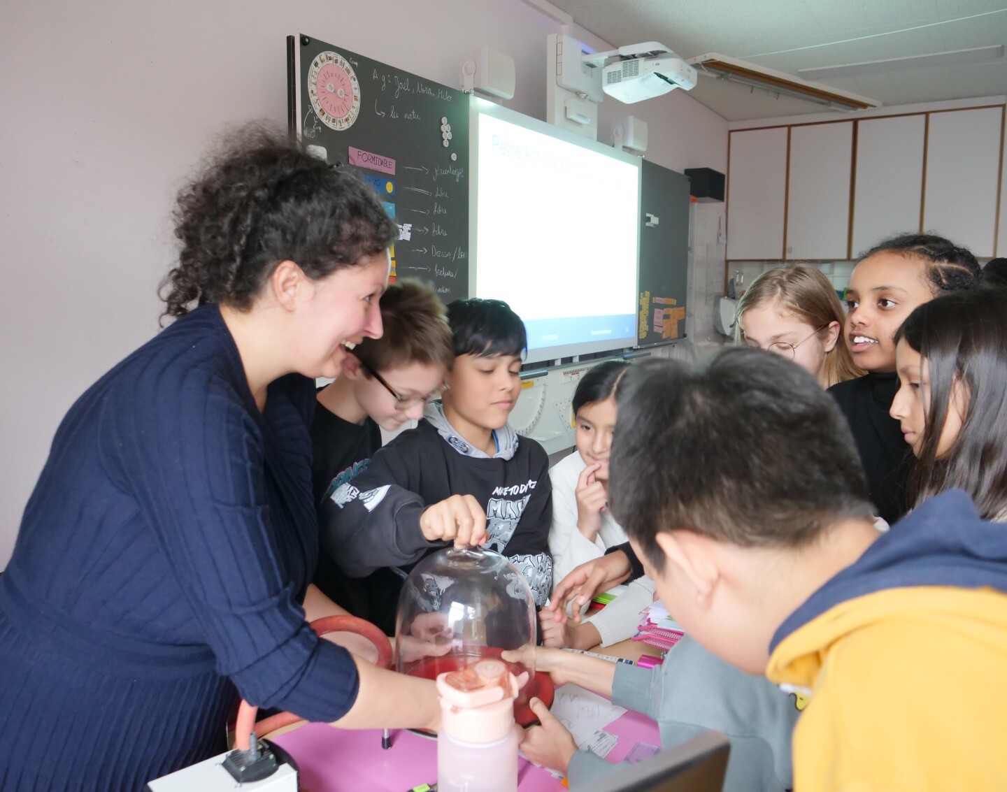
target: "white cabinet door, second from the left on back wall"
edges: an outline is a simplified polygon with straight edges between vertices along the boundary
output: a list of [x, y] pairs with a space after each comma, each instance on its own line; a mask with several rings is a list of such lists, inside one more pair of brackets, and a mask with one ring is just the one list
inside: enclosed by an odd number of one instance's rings
[[786, 258], [845, 259], [853, 122], [790, 129]]

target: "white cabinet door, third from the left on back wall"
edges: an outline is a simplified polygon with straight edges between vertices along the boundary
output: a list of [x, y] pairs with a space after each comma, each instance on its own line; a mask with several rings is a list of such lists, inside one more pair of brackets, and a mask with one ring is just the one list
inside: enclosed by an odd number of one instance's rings
[[857, 173], [851, 255], [919, 228], [926, 116], [863, 119], [857, 124]]

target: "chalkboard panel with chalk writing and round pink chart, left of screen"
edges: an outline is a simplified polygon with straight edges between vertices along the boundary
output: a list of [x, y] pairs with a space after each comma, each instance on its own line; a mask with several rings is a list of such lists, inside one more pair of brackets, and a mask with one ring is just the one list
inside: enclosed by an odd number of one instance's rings
[[306, 35], [287, 38], [288, 117], [399, 224], [393, 275], [468, 297], [468, 95]]

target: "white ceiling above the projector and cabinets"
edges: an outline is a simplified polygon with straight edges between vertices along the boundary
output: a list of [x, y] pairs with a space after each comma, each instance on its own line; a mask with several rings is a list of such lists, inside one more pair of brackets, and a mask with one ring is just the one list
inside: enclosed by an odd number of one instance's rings
[[[680, 57], [719, 52], [798, 76], [799, 68], [1007, 42], [1005, 0], [551, 0], [613, 46], [660, 41]], [[849, 40], [855, 39], [855, 40]], [[909, 105], [1007, 92], [1007, 57], [820, 82]], [[819, 113], [821, 106], [700, 76], [690, 96], [729, 121]]]

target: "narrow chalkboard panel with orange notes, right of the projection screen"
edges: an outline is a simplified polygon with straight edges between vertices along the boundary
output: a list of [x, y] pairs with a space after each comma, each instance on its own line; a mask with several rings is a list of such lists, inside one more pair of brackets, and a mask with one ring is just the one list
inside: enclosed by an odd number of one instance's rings
[[685, 338], [689, 179], [643, 160], [640, 173], [637, 346]]

